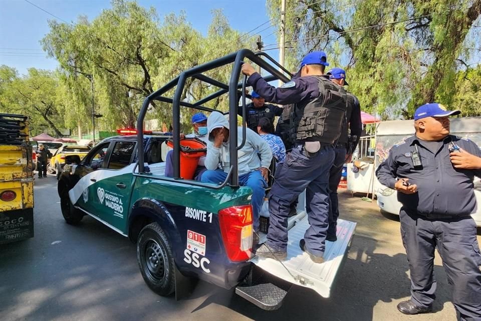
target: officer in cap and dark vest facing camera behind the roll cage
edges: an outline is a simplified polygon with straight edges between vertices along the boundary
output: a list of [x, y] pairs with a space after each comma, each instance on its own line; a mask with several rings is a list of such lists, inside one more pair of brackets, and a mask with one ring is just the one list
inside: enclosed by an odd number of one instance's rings
[[[247, 126], [257, 132], [257, 125], [261, 118], [268, 118], [274, 128], [274, 118], [282, 115], [282, 107], [266, 104], [266, 100], [257, 92], [251, 93], [252, 102], [246, 106], [247, 108]], [[242, 116], [242, 106], [237, 107], [237, 114]]]

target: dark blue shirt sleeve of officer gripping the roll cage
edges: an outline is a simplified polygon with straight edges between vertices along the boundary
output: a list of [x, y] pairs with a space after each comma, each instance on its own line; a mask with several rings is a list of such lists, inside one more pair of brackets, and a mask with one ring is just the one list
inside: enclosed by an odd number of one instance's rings
[[[259, 73], [255, 72], [247, 79], [247, 83], [267, 101], [288, 105], [301, 103], [304, 100], [311, 101], [319, 97], [319, 80], [316, 77], [318, 76], [293, 78], [290, 82], [276, 88], [268, 84]], [[324, 75], [323, 77], [329, 79], [329, 76]]]

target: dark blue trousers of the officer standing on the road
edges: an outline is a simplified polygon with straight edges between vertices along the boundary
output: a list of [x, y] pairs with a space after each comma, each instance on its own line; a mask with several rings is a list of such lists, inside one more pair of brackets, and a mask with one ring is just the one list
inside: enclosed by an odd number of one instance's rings
[[428, 219], [403, 208], [401, 236], [411, 276], [411, 300], [427, 306], [435, 298], [434, 248], [437, 248], [449, 284], [458, 320], [481, 320], [481, 254], [476, 224], [471, 217]]

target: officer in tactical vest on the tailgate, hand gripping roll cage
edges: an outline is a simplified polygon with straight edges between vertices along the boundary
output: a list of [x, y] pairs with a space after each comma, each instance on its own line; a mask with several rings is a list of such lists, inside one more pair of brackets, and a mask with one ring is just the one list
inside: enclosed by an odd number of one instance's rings
[[267, 101], [295, 103], [291, 117], [294, 148], [283, 166], [276, 169], [269, 195], [270, 225], [267, 242], [256, 254], [264, 257], [287, 257], [288, 216], [290, 205], [307, 190], [306, 202], [310, 227], [300, 242], [303, 251], [316, 263], [324, 261], [329, 212], [329, 170], [334, 161], [334, 142], [338, 139], [347, 109], [346, 91], [324, 75], [329, 64], [322, 51], [312, 52], [301, 62], [301, 77], [280, 88], [269, 85], [250, 64], [242, 72], [248, 84]]

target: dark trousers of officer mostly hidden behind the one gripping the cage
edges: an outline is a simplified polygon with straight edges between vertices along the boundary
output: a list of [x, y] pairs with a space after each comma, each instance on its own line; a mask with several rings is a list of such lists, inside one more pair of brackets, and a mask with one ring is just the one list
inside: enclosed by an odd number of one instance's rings
[[346, 161], [346, 148], [334, 148], [334, 163], [329, 171], [329, 228], [328, 235], [336, 235], [337, 218], [339, 217], [339, 198], [337, 187], [341, 182], [342, 167]]

